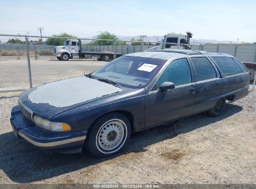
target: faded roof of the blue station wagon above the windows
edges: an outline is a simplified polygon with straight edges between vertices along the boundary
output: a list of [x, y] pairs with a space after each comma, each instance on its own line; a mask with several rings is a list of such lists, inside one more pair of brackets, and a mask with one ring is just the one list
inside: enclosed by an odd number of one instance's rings
[[230, 55], [226, 53], [215, 53], [215, 52], [206, 52], [202, 50], [183, 50], [183, 49], [148, 50], [145, 52], [136, 52], [136, 53], [126, 54], [125, 56], [169, 60], [171, 58], [184, 58], [189, 55], [222, 55], [222, 56], [230, 57]]

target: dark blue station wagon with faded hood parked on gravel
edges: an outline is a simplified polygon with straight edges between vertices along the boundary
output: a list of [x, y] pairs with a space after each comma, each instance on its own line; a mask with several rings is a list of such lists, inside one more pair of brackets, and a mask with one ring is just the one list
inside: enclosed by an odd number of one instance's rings
[[24, 91], [11, 111], [14, 134], [51, 152], [96, 157], [120, 152], [131, 133], [247, 96], [236, 58], [194, 50], [150, 50], [116, 58], [91, 74]]

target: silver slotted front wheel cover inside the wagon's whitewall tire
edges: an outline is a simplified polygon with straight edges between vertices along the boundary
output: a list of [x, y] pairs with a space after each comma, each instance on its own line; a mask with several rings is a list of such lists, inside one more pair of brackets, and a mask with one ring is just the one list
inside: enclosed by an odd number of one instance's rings
[[98, 132], [98, 144], [103, 150], [112, 150], [118, 147], [125, 136], [125, 125], [118, 120], [103, 124]]

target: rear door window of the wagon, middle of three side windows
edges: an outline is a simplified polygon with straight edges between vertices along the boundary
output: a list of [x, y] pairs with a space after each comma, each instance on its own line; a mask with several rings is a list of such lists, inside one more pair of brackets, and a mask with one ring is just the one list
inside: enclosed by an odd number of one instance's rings
[[196, 69], [198, 81], [210, 80], [217, 77], [214, 67], [206, 57], [195, 57], [191, 59]]

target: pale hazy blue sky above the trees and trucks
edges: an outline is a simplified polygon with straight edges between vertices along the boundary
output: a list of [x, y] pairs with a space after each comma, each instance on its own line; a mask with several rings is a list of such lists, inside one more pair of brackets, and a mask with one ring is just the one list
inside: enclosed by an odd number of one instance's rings
[[93, 37], [192, 32], [194, 39], [256, 42], [256, 1], [6, 1], [0, 0], [0, 34], [67, 32]]

